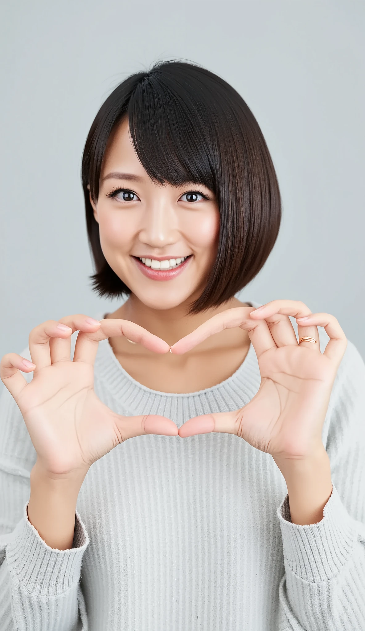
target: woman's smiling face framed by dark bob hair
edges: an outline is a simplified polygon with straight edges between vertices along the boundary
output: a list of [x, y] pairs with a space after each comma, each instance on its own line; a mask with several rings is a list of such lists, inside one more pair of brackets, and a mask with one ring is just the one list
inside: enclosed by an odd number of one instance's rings
[[217, 200], [200, 184], [153, 183], [126, 118], [109, 141], [92, 206], [105, 259], [143, 304], [172, 309], [200, 295], [217, 256]]

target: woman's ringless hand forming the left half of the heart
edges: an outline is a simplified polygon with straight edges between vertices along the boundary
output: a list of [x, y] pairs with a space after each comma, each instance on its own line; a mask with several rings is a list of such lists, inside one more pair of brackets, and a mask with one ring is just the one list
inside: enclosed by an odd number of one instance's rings
[[[165, 416], [118, 415], [93, 390], [93, 365], [102, 339], [125, 335], [155, 353], [167, 353], [169, 345], [135, 322], [113, 318], [92, 322], [80, 314], [43, 322], [29, 335], [33, 366], [25, 367], [24, 358], [16, 353], [7, 353], [0, 362], [0, 378], [23, 415], [37, 466], [52, 478], [85, 475], [95, 461], [129, 438], [179, 433]], [[70, 328], [61, 330], [59, 324]], [[71, 360], [75, 331], [79, 333]], [[30, 383], [20, 370], [33, 370]]]

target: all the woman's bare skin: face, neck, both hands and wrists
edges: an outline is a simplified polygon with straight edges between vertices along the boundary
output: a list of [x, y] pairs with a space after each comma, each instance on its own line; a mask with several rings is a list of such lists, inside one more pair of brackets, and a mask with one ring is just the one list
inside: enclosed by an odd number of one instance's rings
[[[122, 193], [111, 198], [117, 187], [133, 194], [127, 201]], [[206, 198], [198, 194], [188, 201], [186, 194], [197, 189]], [[335, 317], [312, 314], [295, 300], [273, 300], [254, 310], [234, 297], [188, 315], [217, 254], [217, 199], [194, 182], [179, 187], [153, 182], [136, 156], [126, 119], [109, 139], [99, 197], [91, 202], [105, 259], [131, 296], [100, 322], [83, 314], [43, 322], [29, 336], [32, 363], [16, 353], [0, 362], [1, 380], [37, 452], [30, 474], [30, 523], [49, 546], [70, 548], [78, 492], [91, 464], [145, 433], [179, 440], [206, 432], [234, 433], [271, 454], [287, 484], [291, 521], [321, 521], [332, 494], [321, 432], [347, 346]], [[181, 274], [164, 281], [147, 278], [133, 258], [190, 255]], [[299, 338], [309, 336], [313, 342], [298, 343], [289, 316], [297, 319]], [[60, 322], [66, 329], [58, 328]], [[330, 337], [323, 353], [318, 326]], [[93, 391], [93, 362], [99, 341], [106, 338], [132, 377], [164, 392], [194, 392], [222, 382], [241, 365], [252, 343], [260, 389], [240, 410], [191, 418], [179, 430], [163, 416], [121, 416]], [[33, 371], [29, 384], [21, 371]]]

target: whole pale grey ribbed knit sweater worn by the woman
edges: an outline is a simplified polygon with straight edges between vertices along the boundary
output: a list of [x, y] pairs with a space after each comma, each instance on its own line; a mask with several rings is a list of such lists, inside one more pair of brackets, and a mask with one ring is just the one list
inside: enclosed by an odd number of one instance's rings
[[[146, 435], [92, 465], [73, 548], [54, 550], [27, 519], [36, 454], [0, 385], [1, 631], [365, 629], [365, 365], [350, 341], [323, 427], [333, 491], [310, 526], [290, 522], [282, 474], [244, 440]], [[112, 410], [177, 427], [236, 410], [259, 386], [252, 345], [229, 379], [191, 394], [142, 386], [107, 339], [95, 361], [95, 392]]]

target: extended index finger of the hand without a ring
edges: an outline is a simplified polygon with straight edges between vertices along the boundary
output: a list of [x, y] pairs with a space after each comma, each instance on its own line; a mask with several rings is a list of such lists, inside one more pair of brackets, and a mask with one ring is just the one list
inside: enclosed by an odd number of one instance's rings
[[93, 364], [97, 355], [99, 342], [102, 339], [124, 335], [129, 340], [141, 344], [155, 353], [168, 353], [170, 346], [163, 339], [153, 335], [139, 324], [119, 318], [100, 320], [100, 328], [92, 333], [78, 334], [75, 345], [74, 362]]

